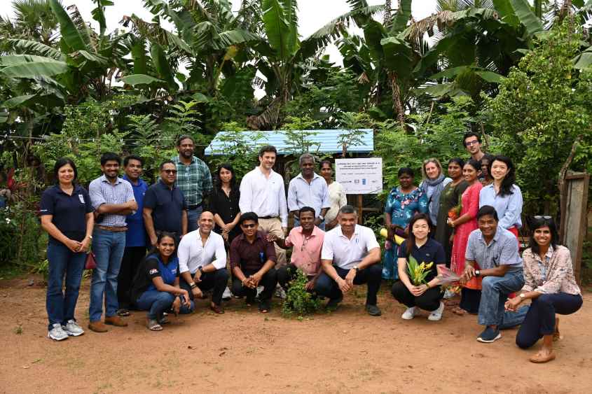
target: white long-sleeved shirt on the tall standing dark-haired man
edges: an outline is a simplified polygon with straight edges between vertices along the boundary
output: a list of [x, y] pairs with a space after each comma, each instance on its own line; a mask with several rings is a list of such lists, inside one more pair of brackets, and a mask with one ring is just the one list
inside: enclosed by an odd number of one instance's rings
[[280, 216], [282, 227], [288, 227], [284, 178], [273, 169], [267, 177], [256, 167], [242, 178], [238, 206], [242, 213], [254, 212], [261, 218]]

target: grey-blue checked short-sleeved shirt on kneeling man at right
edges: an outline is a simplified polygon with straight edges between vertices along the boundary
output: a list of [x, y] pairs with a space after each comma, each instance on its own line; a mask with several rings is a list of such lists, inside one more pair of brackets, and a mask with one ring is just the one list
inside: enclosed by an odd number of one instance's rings
[[499, 225], [489, 245], [483, 239], [481, 230], [473, 230], [469, 234], [464, 259], [475, 261], [481, 269], [509, 265], [510, 272], [522, 271], [522, 259], [518, 254], [516, 236]]

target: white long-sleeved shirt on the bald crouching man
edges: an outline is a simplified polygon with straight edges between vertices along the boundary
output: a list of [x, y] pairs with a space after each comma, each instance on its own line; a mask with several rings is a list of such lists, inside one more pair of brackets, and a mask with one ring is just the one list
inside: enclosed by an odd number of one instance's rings
[[179, 243], [177, 250], [179, 258], [179, 272], [191, 272], [195, 274], [200, 267], [210, 263], [221, 269], [226, 267], [226, 249], [224, 248], [224, 239], [220, 234], [210, 232], [202, 244], [200, 230], [195, 230], [185, 234]]

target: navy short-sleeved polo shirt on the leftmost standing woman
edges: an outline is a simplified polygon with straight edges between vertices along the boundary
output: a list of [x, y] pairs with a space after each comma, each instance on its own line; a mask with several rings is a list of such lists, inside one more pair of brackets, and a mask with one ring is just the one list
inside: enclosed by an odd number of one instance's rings
[[[75, 185], [72, 195], [55, 185], [41, 195], [39, 213], [51, 215], [51, 223], [69, 239], [82, 241], [86, 235], [86, 214], [94, 211], [88, 192], [81, 185]], [[50, 242], [60, 243], [49, 236]]]

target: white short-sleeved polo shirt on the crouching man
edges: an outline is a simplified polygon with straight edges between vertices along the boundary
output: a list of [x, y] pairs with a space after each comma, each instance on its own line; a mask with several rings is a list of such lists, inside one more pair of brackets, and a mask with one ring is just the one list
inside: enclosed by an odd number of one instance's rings
[[338, 226], [325, 233], [322, 260], [333, 260], [333, 265], [343, 269], [351, 269], [361, 262], [373, 248], [380, 248], [376, 235], [369, 227], [356, 225], [352, 238], [349, 239]]

